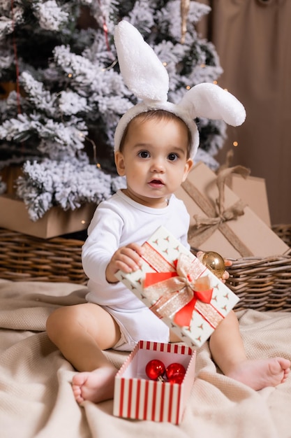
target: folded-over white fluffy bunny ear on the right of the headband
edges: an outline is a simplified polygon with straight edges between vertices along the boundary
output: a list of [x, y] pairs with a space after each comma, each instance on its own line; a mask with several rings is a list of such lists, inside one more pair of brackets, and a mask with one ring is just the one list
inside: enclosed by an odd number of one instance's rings
[[193, 119], [204, 117], [224, 120], [232, 126], [239, 126], [246, 119], [246, 110], [241, 102], [230, 92], [212, 83], [195, 85], [184, 94], [179, 106]]

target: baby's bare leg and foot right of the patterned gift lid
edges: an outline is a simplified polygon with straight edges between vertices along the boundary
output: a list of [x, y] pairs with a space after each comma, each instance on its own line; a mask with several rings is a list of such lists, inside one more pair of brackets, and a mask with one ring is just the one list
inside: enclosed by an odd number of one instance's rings
[[248, 360], [239, 333], [239, 322], [232, 311], [218, 325], [209, 342], [214, 362], [221, 371], [255, 390], [283, 383], [290, 372], [290, 360], [270, 358]]

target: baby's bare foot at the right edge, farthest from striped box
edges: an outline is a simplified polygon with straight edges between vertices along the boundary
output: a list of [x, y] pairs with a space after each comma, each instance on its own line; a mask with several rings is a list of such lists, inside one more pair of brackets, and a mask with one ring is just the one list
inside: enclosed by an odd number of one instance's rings
[[285, 382], [290, 372], [290, 365], [290, 360], [284, 358], [246, 360], [234, 367], [227, 376], [254, 390], [260, 390]]

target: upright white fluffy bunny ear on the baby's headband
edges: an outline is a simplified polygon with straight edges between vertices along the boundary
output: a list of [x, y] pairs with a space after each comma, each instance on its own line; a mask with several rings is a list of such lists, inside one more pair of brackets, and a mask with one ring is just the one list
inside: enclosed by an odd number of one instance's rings
[[169, 75], [154, 50], [135, 27], [122, 20], [114, 31], [121, 75], [127, 87], [143, 101], [167, 101]]

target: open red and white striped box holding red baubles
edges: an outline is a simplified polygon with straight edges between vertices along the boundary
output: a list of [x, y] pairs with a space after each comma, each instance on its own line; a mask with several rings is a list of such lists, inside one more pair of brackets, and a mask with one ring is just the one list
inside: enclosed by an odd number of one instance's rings
[[[195, 379], [195, 355], [188, 346], [139, 341], [115, 376], [114, 416], [181, 423]], [[145, 367], [153, 359], [161, 360], [165, 367], [174, 362], [184, 365], [182, 383], [150, 380]]]

